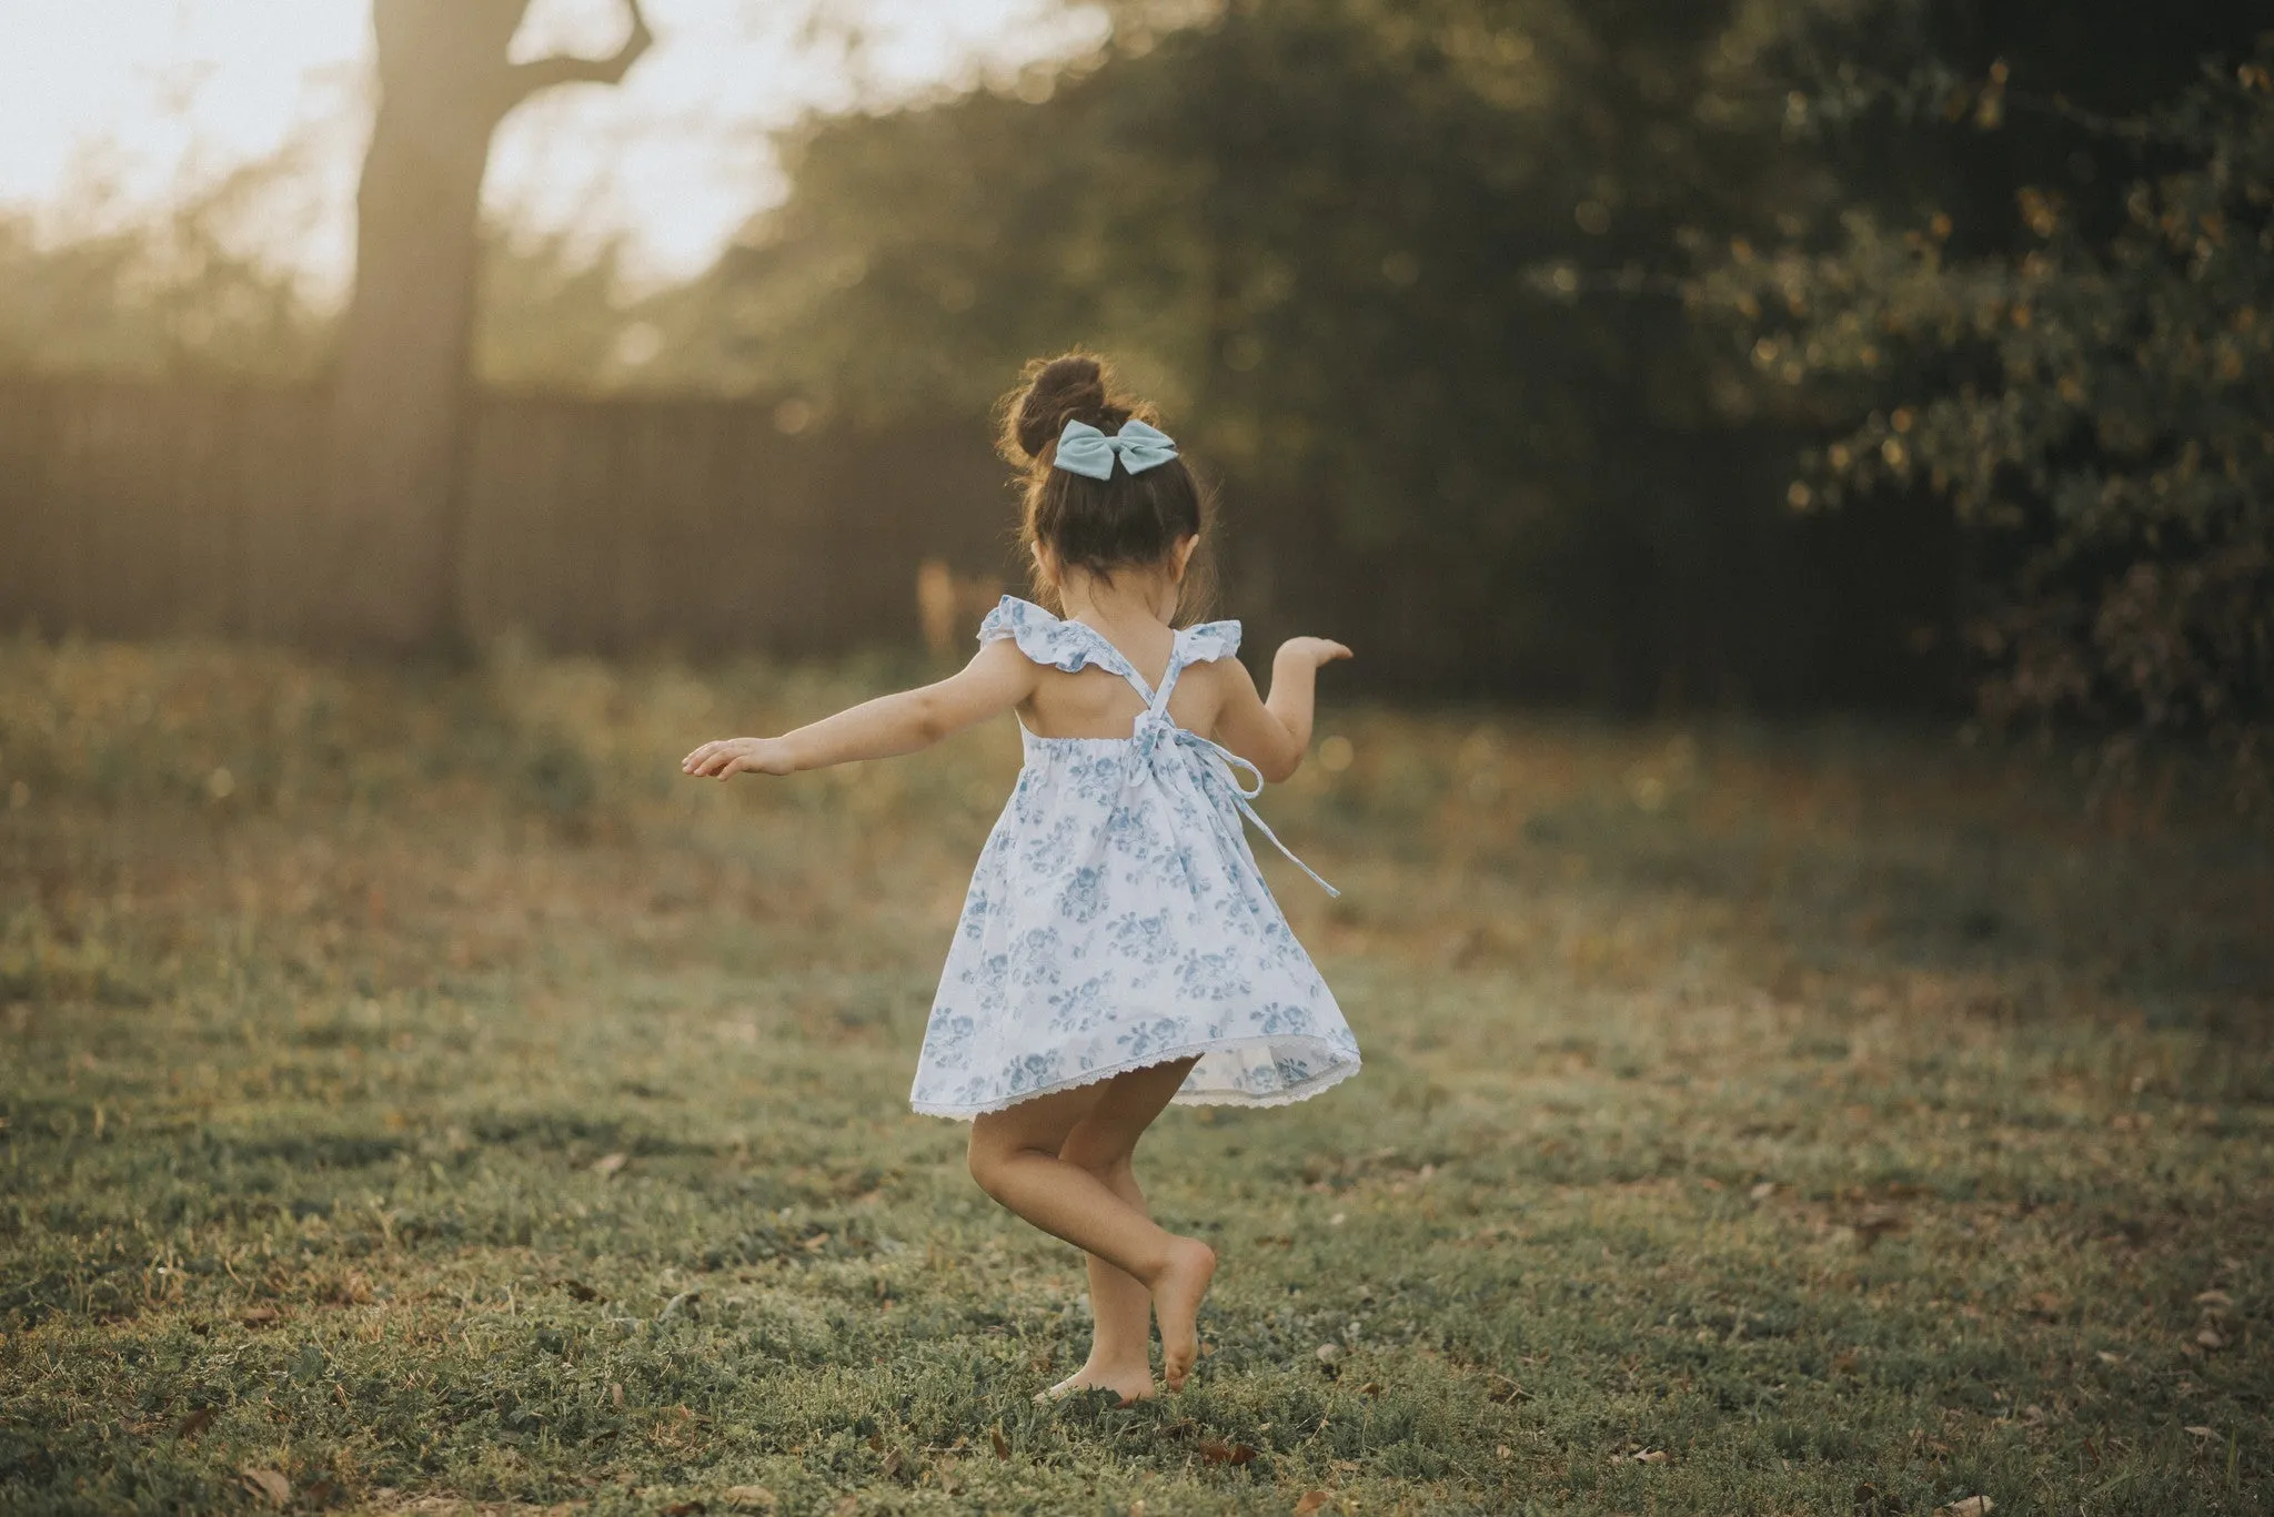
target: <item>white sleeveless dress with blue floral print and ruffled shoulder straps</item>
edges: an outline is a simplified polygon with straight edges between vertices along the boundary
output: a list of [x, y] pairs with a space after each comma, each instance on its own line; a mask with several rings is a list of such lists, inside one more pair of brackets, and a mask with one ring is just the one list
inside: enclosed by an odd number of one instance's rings
[[1003, 637], [1037, 664], [1110, 669], [1146, 710], [1128, 737], [1021, 726], [1026, 766], [971, 873], [910, 1105], [978, 1117], [1192, 1055], [1187, 1105], [1283, 1105], [1358, 1073], [1248, 853], [1262, 778], [1242, 787], [1233, 766], [1253, 764], [1169, 719], [1176, 678], [1233, 657], [1239, 623], [1180, 630], [1157, 691], [1103, 632], [1028, 600], [1003, 596], [980, 625]]

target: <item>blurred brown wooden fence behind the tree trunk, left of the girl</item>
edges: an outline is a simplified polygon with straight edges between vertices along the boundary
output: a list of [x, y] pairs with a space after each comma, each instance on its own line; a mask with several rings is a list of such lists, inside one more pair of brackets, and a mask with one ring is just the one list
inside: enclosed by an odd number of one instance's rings
[[[971, 430], [803, 428], [725, 400], [484, 396], [464, 469], [468, 635], [562, 650], [841, 650], [919, 637], [916, 573], [1005, 575]], [[0, 382], [0, 625], [289, 641], [323, 393]]]

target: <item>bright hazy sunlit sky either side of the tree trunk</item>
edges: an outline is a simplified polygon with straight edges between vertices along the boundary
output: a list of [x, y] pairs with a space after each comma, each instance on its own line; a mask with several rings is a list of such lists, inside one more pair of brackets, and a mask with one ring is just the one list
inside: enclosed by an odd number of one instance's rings
[[[277, 209], [255, 239], [337, 289], [371, 111], [371, 0], [0, 0], [0, 207], [68, 237], [296, 150], [300, 214]], [[648, 0], [648, 18], [657, 45], [632, 77], [516, 111], [489, 177], [507, 221], [628, 232], [646, 277], [698, 271], [782, 193], [769, 132], [800, 114], [1003, 77], [1094, 45], [1105, 25], [1060, 0]], [[616, 0], [534, 0], [516, 55], [609, 52], [621, 36]]]

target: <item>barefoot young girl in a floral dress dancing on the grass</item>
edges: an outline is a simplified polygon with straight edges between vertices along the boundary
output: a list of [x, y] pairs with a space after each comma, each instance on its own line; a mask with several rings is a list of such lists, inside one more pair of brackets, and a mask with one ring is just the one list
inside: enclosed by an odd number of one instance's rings
[[1089, 1255], [1089, 1362], [1046, 1396], [1151, 1396], [1148, 1317], [1169, 1390], [1198, 1358], [1217, 1255], [1160, 1228], [1130, 1171], [1160, 1110], [1283, 1105], [1358, 1073], [1242, 830], [1262, 828], [1262, 782], [1303, 762], [1319, 664], [1351, 650], [1283, 644], [1262, 698], [1237, 621], [1171, 623], [1201, 491], [1146, 416], [1082, 355], [1030, 366], [1007, 403], [1023, 539], [1064, 619], [1005, 596], [962, 673], [684, 760], [721, 780], [796, 773], [1019, 712], [1026, 769], [971, 876], [910, 1103], [971, 1119], [980, 1187]]

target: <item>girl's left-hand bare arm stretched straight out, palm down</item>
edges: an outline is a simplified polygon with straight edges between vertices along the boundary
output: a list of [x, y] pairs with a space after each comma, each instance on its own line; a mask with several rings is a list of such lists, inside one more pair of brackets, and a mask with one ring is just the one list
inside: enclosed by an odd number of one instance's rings
[[1019, 644], [998, 639], [937, 685], [862, 701], [782, 737], [723, 737], [689, 753], [680, 769], [725, 780], [737, 773], [796, 773], [914, 753], [973, 721], [1012, 710], [1035, 694], [1037, 678], [1037, 666], [1019, 653]]

